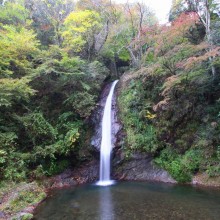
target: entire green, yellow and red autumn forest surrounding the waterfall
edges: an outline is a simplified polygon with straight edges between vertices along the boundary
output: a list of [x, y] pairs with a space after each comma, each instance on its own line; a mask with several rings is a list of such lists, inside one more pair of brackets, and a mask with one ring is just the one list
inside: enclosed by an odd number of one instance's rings
[[1, 0], [0, 179], [91, 157], [89, 117], [104, 83], [126, 71], [126, 155], [150, 153], [182, 182], [219, 175], [219, 10], [174, 0], [160, 25], [140, 2]]

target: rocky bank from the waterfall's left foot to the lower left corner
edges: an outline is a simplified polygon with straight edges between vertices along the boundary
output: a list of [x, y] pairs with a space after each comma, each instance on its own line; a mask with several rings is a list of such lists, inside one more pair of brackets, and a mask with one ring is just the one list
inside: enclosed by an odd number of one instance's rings
[[[84, 163], [74, 170], [66, 170], [60, 175], [51, 178], [12, 186], [2, 193], [0, 197], [0, 220], [32, 219], [36, 207], [46, 199], [52, 189], [94, 182], [98, 179], [98, 173], [99, 162], [94, 160]], [[34, 198], [29, 198], [29, 201], [27, 201], [28, 199], [24, 197], [28, 197], [33, 192], [36, 192], [36, 195], [33, 195]], [[25, 204], [27, 206], [23, 207]], [[20, 206], [20, 208], [17, 206]]]

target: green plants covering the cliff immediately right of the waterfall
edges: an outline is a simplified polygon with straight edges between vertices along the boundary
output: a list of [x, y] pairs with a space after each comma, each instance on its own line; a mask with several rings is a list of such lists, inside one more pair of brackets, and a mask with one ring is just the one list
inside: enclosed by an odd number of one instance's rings
[[140, 81], [131, 82], [119, 99], [120, 117], [127, 134], [126, 154], [143, 151], [154, 154], [160, 147], [156, 138], [157, 130], [153, 125], [156, 115], [152, 111], [151, 103], [146, 100]]

